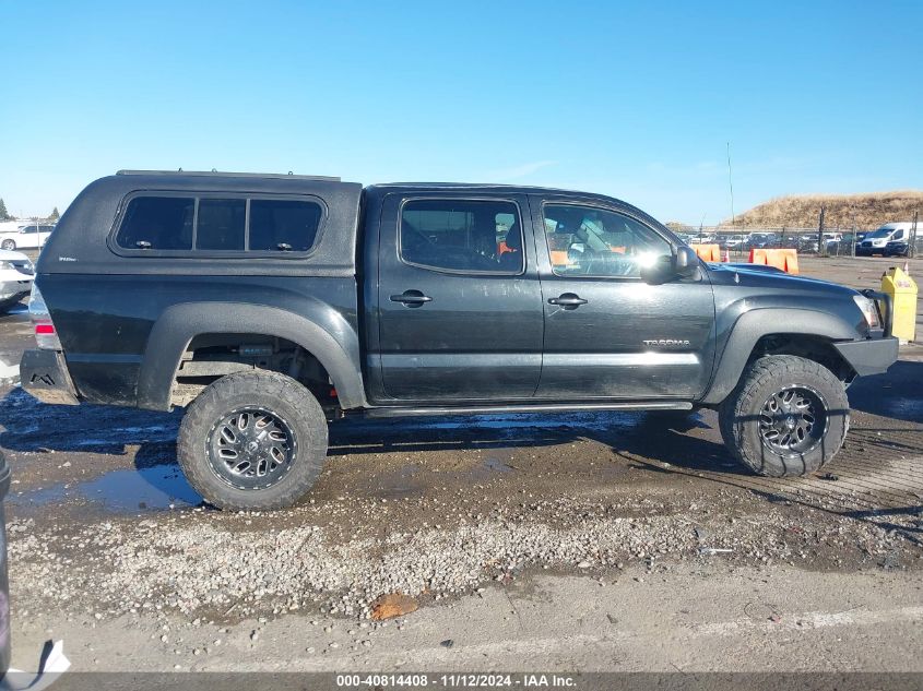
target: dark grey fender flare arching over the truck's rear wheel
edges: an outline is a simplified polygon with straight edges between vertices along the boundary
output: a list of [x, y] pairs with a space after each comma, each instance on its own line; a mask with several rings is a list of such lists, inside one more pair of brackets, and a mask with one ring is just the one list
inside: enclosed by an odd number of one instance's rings
[[[288, 310], [241, 302], [184, 302], [157, 319], [138, 377], [138, 407], [169, 410], [179, 361], [189, 343], [206, 333], [255, 333], [297, 343], [330, 374], [343, 408], [366, 405], [358, 336], [340, 320], [335, 335]], [[344, 347], [345, 345], [345, 347]]]

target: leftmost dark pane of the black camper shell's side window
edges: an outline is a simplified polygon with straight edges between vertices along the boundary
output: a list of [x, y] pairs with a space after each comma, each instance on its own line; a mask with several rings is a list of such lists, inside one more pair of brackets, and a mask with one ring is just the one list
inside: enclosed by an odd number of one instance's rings
[[134, 250], [191, 250], [196, 200], [135, 196], [128, 202], [116, 241]]

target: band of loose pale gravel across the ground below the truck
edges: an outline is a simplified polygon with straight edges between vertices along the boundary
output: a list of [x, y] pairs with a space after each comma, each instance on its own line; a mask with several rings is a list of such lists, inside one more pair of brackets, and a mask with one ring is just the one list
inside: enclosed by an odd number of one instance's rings
[[[688, 510], [667, 514], [654, 501], [625, 505], [564, 496], [497, 503], [488, 515], [438, 507], [434, 499], [405, 500], [397, 511], [344, 500], [269, 522], [260, 514], [226, 519], [202, 509], [78, 531], [37, 532], [26, 520], [10, 525], [15, 536], [10, 553], [21, 601], [92, 603], [97, 618], [177, 610], [233, 621], [303, 607], [367, 618], [381, 595], [439, 600], [535, 568], [599, 577], [626, 562], [668, 570], [709, 555], [820, 569], [829, 568], [833, 556], [852, 568], [920, 567], [921, 553], [909, 549], [906, 532], [923, 527], [921, 516], [899, 519], [901, 529], [831, 516], [813, 520], [806, 531], [784, 504], [766, 507], [757, 498], [725, 495], [703, 496]], [[376, 535], [376, 523], [390, 523], [400, 511], [431, 512], [434, 523]], [[351, 535], [343, 529], [346, 522], [365, 529]], [[283, 523], [294, 525], [274, 527]]]

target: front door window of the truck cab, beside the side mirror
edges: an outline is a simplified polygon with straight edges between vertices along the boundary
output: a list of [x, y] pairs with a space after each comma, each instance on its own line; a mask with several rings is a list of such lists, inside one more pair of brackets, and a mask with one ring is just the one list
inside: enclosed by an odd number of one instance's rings
[[605, 209], [546, 204], [544, 222], [558, 276], [639, 278], [642, 266], [672, 253], [651, 228]]

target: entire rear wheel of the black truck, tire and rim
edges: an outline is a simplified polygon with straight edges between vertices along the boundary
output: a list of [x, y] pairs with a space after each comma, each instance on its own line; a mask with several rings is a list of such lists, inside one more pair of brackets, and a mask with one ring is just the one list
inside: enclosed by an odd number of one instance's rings
[[177, 455], [192, 488], [218, 509], [283, 509], [320, 474], [327, 418], [294, 379], [276, 372], [228, 374], [187, 408]]

